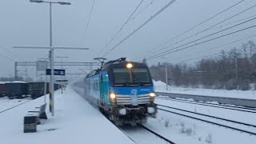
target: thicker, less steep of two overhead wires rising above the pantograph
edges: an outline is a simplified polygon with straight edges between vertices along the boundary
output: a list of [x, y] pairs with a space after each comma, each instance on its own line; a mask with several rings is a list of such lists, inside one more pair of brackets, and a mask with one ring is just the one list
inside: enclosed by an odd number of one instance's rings
[[123, 38], [121, 42], [118, 42], [118, 44], [116, 44], [115, 46], [113, 46], [110, 50], [108, 50], [105, 54], [102, 55], [102, 57], [105, 57], [106, 54], [109, 54], [110, 51], [114, 50], [115, 48], [117, 48], [119, 45], [122, 44], [122, 42], [125, 42], [126, 39], [130, 38], [130, 36], [132, 36], [133, 34], [135, 34], [138, 30], [142, 29], [143, 26], [146, 26], [146, 24], [148, 22], [150, 22], [152, 19], [154, 19], [155, 17], [158, 16], [158, 14], [161, 14], [163, 10], [166, 10], [167, 7], [169, 7], [171, 4], [173, 4], [176, 0], [172, 0], [170, 2], [168, 2], [166, 4], [166, 6], [162, 7], [161, 10], [158, 10], [158, 12], [156, 14], [154, 14], [153, 16], [151, 16], [148, 20], [146, 20], [146, 22], [143, 22], [141, 26], [138, 26], [138, 28], [136, 30], [134, 30], [132, 33], [128, 34], [126, 36], [126, 38]]

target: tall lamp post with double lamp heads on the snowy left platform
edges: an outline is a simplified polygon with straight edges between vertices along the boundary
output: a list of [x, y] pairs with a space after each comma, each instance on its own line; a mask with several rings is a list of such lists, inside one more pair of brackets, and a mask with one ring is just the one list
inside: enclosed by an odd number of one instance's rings
[[30, 2], [36, 3], [49, 3], [50, 4], [50, 98], [53, 105], [50, 105], [51, 114], [54, 116], [54, 48], [52, 42], [52, 12], [51, 5], [52, 4], [60, 4], [60, 5], [71, 5], [70, 2], [48, 2], [42, 0], [30, 0]]

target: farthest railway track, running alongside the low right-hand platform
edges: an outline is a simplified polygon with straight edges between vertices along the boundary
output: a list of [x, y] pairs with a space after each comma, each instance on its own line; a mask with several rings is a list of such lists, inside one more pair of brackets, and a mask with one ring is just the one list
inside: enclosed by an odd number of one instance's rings
[[256, 109], [255, 108], [244, 107], [244, 106], [227, 106], [227, 105], [216, 104], [216, 103], [208, 103], [208, 102], [194, 102], [194, 101], [190, 101], [190, 100], [186, 100], [186, 99], [166, 98], [164, 96], [158, 96], [157, 98], [170, 100], [170, 101], [175, 101], [175, 102], [191, 103], [191, 104], [195, 104], [195, 105], [218, 107], [218, 108], [227, 109], [227, 110], [238, 110], [238, 111], [243, 111], [243, 112], [255, 113], [256, 114]]

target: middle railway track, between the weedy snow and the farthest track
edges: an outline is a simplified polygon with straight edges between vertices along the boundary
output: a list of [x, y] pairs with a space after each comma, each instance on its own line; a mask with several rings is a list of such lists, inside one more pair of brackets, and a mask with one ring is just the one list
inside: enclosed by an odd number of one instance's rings
[[[256, 135], [256, 126], [244, 122], [237, 122], [230, 119], [218, 118], [207, 114], [199, 114], [189, 110], [182, 110], [170, 106], [158, 105], [158, 110], [166, 111], [171, 114], [178, 114], [186, 118], [196, 119], [202, 122], [208, 122], [217, 126], [226, 127], [232, 130], [238, 130], [246, 134]], [[250, 130], [248, 130], [250, 129]]]

